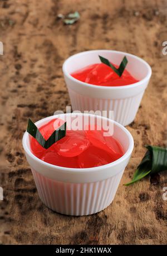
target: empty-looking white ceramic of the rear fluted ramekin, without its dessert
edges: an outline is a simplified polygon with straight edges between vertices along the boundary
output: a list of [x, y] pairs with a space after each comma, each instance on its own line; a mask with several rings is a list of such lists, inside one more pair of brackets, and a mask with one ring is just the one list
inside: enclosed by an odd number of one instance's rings
[[[73, 77], [71, 73], [87, 65], [100, 63], [101, 55], [112, 63], [120, 65], [122, 58], [126, 55], [128, 63], [127, 71], [139, 82], [129, 86], [95, 86], [81, 82]], [[144, 91], [151, 77], [151, 68], [146, 61], [139, 57], [112, 50], [84, 51], [68, 58], [63, 64], [63, 74], [70, 94], [73, 111], [114, 111], [114, 120], [121, 125], [129, 125], [135, 118]]]

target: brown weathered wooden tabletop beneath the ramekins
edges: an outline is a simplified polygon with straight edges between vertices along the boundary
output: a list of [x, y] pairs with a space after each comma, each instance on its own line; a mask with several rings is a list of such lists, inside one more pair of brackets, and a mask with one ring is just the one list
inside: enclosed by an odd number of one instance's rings
[[[72, 26], [58, 13], [78, 11]], [[2, 244], [166, 244], [166, 172], [130, 181], [144, 145], [166, 145], [167, 2], [134, 0], [0, 1], [1, 134], [0, 243]], [[24, 157], [22, 135], [33, 121], [70, 105], [62, 63], [91, 49], [127, 51], [144, 58], [153, 75], [135, 121], [127, 126], [135, 148], [114, 202], [99, 214], [70, 217], [42, 204]]]

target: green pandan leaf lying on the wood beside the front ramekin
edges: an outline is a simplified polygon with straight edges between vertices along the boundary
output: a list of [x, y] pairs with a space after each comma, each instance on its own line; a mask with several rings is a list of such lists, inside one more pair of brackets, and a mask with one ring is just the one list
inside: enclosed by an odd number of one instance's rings
[[131, 182], [126, 183], [125, 186], [129, 186], [132, 183], [143, 179], [148, 174], [159, 173], [163, 170], [167, 170], [167, 149], [160, 148], [159, 146], [146, 146], [148, 151], [141, 163], [138, 165], [134, 177]]

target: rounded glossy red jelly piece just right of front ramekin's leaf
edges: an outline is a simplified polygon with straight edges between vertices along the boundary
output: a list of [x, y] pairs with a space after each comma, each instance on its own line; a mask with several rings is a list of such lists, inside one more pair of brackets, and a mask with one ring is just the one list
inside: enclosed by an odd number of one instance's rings
[[76, 157], [86, 150], [90, 142], [85, 132], [66, 131], [66, 136], [55, 144], [57, 153], [62, 157]]

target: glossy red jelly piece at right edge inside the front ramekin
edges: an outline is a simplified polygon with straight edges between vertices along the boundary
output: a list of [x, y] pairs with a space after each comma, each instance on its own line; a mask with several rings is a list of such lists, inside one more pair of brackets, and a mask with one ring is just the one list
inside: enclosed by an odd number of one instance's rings
[[104, 133], [106, 133], [104, 130], [97, 129], [97, 126], [95, 130], [91, 130], [90, 126], [86, 126], [85, 133], [90, 143], [97, 148], [105, 150], [115, 160], [122, 157], [124, 151], [121, 144], [113, 136], [104, 136]]

